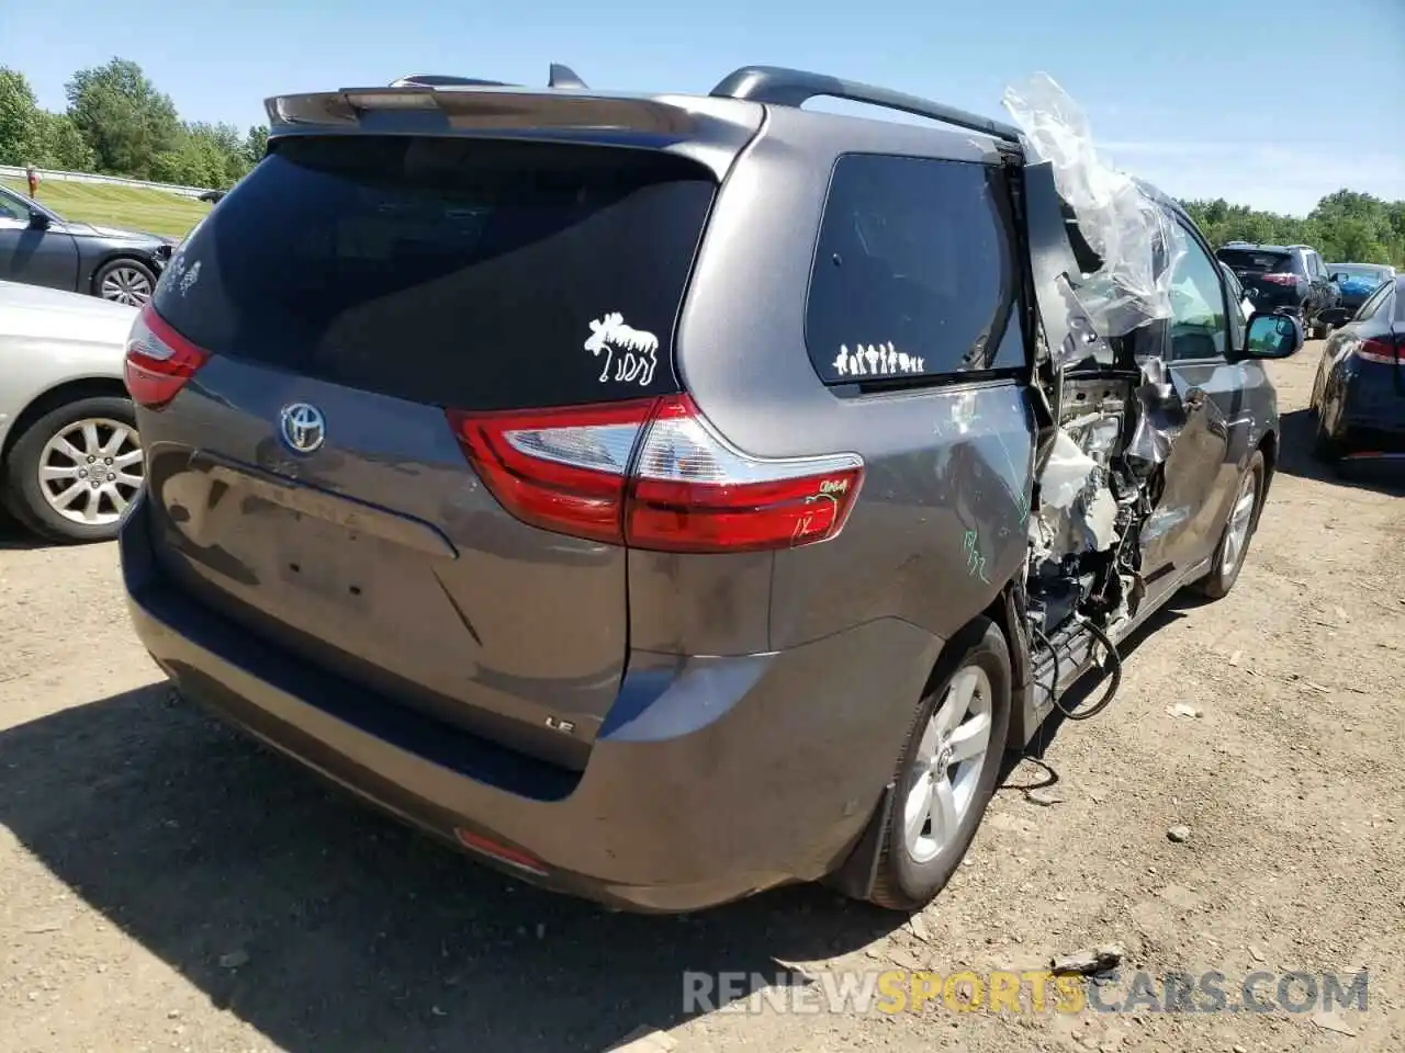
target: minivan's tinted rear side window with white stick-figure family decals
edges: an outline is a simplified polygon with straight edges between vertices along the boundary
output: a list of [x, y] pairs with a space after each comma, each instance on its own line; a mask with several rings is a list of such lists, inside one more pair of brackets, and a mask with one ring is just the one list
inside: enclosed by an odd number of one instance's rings
[[844, 154], [821, 220], [805, 345], [826, 383], [1024, 364], [1006, 176]]

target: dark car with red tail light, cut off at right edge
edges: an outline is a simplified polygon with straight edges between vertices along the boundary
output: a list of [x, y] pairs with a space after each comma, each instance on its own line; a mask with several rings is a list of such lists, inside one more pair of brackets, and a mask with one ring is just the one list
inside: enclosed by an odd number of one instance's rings
[[1326, 341], [1312, 410], [1322, 459], [1405, 458], [1405, 278], [1380, 285]]

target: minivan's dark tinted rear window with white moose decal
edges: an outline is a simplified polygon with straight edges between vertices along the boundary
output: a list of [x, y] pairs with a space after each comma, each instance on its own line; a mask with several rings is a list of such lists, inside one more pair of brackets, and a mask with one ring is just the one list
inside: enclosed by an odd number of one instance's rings
[[714, 191], [653, 150], [291, 138], [181, 246], [155, 303], [215, 354], [420, 403], [676, 390]]

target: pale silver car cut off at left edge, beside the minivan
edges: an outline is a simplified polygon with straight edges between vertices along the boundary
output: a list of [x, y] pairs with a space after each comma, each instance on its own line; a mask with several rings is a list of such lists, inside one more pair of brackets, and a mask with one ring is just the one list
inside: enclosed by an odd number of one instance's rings
[[60, 542], [110, 541], [142, 486], [124, 388], [138, 309], [0, 282], [0, 498]]

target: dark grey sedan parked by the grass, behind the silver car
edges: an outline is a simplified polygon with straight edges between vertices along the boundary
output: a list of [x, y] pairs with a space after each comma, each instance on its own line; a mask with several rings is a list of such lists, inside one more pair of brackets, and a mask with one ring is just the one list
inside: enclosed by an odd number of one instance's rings
[[174, 244], [174, 237], [63, 219], [0, 187], [0, 281], [140, 306], [150, 299]]

